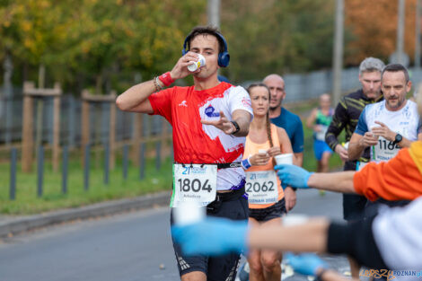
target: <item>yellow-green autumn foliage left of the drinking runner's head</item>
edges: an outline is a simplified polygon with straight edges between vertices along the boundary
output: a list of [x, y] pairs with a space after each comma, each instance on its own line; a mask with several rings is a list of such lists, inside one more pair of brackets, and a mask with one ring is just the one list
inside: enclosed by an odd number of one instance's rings
[[43, 64], [52, 80], [78, 88], [95, 83], [102, 92], [116, 73], [169, 70], [186, 33], [205, 22], [205, 7], [195, 0], [6, 0], [0, 57]]

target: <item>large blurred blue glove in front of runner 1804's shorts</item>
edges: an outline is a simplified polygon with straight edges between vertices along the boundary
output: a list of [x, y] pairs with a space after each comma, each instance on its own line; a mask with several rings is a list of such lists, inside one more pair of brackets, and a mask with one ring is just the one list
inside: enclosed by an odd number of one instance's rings
[[207, 217], [196, 224], [173, 225], [171, 235], [187, 255], [222, 255], [247, 249], [247, 221]]

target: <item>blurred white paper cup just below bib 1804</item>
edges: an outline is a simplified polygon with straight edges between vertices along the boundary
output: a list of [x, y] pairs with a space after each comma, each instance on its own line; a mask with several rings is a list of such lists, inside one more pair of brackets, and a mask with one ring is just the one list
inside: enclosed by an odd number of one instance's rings
[[183, 202], [173, 207], [173, 215], [175, 224], [194, 224], [205, 219], [206, 207], [195, 202]]

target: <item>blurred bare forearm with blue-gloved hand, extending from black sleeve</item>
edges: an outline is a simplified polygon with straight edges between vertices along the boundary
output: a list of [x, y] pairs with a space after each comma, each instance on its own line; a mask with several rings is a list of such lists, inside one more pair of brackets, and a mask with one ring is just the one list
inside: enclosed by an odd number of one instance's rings
[[221, 255], [251, 248], [324, 252], [329, 225], [322, 218], [295, 226], [248, 226], [243, 221], [207, 217], [195, 224], [174, 225], [171, 235], [188, 255]]

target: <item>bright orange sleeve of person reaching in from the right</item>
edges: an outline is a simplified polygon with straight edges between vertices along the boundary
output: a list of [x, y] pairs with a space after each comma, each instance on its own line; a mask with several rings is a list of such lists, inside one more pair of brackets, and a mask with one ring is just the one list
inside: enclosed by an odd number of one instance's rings
[[[422, 149], [422, 146], [418, 147], [418, 151]], [[357, 171], [353, 177], [356, 193], [371, 201], [377, 198], [413, 200], [421, 196], [422, 171], [410, 155], [412, 149], [415, 149], [414, 145], [401, 149], [389, 162], [370, 162]]]

